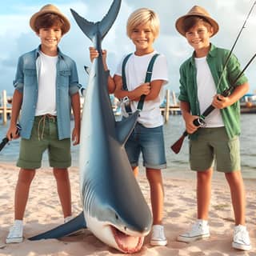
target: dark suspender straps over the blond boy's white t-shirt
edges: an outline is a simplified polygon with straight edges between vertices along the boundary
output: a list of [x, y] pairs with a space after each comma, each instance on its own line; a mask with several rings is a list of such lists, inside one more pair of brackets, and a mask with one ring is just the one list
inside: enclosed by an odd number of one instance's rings
[[[131, 54], [128, 54], [122, 62], [122, 90], [128, 90], [127, 84], [126, 84], [126, 62], [130, 58], [130, 55]], [[147, 70], [146, 70], [145, 82], [151, 81], [154, 62], [155, 62], [156, 58], [158, 58], [158, 56], [159, 56], [159, 54], [154, 54], [154, 56], [150, 59], [149, 66], [147, 67]], [[138, 102], [138, 106], [137, 106], [138, 110], [142, 110], [145, 98], [146, 98], [146, 95], [143, 94]], [[130, 106], [126, 106], [126, 112], [131, 113]]]

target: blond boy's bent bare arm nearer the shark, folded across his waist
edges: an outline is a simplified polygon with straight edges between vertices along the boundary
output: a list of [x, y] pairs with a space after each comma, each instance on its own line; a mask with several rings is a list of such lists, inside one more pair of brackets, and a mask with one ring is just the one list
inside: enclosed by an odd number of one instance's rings
[[150, 94], [150, 82], [142, 83], [142, 85], [136, 87], [134, 90], [122, 90], [122, 76], [115, 74], [114, 83], [116, 86], [114, 96], [116, 98], [124, 98], [127, 96], [131, 101], [138, 101], [142, 94]]

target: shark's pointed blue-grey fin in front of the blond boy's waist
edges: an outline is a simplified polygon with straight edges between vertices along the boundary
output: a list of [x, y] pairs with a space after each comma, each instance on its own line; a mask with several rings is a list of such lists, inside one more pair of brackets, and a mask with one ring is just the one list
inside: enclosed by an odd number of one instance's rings
[[131, 114], [128, 118], [122, 118], [122, 121], [116, 122], [116, 133], [118, 137], [118, 142], [124, 145], [129, 138], [132, 130], [138, 119], [139, 111], [137, 110], [134, 114]]

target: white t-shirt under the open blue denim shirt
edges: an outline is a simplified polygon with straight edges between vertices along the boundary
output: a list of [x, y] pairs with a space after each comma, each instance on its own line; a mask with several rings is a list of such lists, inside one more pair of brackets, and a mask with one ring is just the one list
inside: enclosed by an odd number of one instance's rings
[[58, 56], [48, 56], [40, 51], [36, 65], [38, 71], [38, 102], [35, 115], [57, 114], [56, 64]]

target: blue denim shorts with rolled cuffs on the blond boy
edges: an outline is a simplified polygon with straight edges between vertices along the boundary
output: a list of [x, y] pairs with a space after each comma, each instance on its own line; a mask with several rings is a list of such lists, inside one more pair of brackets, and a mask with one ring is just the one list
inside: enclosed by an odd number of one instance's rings
[[146, 166], [146, 168], [156, 170], [166, 168], [162, 126], [146, 128], [137, 122], [126, 142], [126, 153], [130, 165], [133, 167], [138, 166], [138, 159], [142, 153], [143, 166]]

